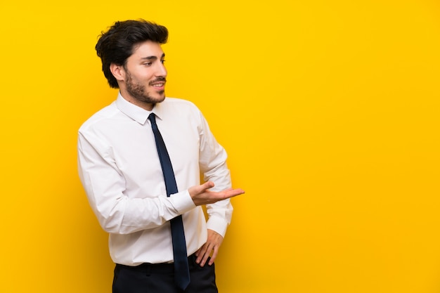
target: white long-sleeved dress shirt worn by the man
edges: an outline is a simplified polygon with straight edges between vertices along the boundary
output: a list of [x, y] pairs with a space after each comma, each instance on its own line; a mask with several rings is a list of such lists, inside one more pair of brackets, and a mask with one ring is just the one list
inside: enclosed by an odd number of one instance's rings
[[169, 220], [181, 214], [188, 255], [207, 240], [207, 228], [222, 236], [231, 222], [229, 200], [195, 207], [188, 188], [213, 181], [231, 187], [226, 151], [216, 142], [198, 108], [165, 98], [155, 105], [157, 126], [172, 161], [179, 193], [167, 197], [148, 115], [118, 95], [79, 129], [79, 178], [99, 223], [110, 233], [115, 263], [137, 266], [173, 260]]

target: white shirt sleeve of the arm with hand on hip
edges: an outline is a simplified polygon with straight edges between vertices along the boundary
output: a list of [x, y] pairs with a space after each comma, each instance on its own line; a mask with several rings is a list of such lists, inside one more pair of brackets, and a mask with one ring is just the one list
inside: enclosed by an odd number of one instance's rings
[[[204, 181], [214, 182], [214, 191], [231, 188], [231, 174], [226, 164], [226, 150], [216, 141], [209, 129], [206, 119], [200, 113], [200, 171]], [[207, 204], [207, 228], [216, 231], [223, 237], [231, 223], [233, 207], [231, 201], [221, 200]]]

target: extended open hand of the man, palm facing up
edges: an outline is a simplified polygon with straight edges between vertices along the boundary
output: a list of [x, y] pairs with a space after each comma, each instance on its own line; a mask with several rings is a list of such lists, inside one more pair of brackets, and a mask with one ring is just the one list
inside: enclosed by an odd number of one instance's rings
[[213, 204], [219, 200], [226, 200], [226, 198], [234, 197], [245, 193], [245, 190], [240, 188], [228, 188], [223, 191], [211, 191], [209, 188], [214, 187], [214, 182], [207, 181], [202, 185], [195, 185], [188, 189], [191, 198], [195, 205]]

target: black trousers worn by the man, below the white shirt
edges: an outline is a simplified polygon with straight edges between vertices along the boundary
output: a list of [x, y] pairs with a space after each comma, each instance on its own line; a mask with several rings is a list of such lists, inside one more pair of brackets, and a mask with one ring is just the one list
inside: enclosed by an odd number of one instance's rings
[[188, 257], [190, 285], [185, 291], [174, 284], [174, 264], [143, 263], [140, 266], [117, 264], [113, 278], [113, 293], [218, 293], [215, 268], [195, 263], [195, 255]]

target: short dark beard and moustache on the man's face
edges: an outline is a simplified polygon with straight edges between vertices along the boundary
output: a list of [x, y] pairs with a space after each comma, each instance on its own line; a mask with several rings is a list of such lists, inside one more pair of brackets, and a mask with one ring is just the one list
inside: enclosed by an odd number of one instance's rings
[[[157, 77], [148, 83], [152, 85], [155, 82], [166, 82], [165, 77]], [[153, 93], [147, 91], [146, 86], [139, 82], [134, 82], [131, 78], [130, 72], [127, 72], [127, 81], [125, 82], [127, 92], [136, 100], [142, 103], [155, 104], [160, 103], [165, 99], [165, 91], [154, 91]]]

